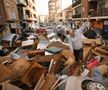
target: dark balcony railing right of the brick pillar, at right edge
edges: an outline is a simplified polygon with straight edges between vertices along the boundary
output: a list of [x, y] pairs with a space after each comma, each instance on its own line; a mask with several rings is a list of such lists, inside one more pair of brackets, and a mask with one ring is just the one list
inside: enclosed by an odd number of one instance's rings
[[89, 15], [91, 15], [91, 17], [108, 16], [108, 7], [107, 8], [102, 8], [102, 9], [98, 9], [98, 10], [91, 10], [91, 11], [89, 11]]

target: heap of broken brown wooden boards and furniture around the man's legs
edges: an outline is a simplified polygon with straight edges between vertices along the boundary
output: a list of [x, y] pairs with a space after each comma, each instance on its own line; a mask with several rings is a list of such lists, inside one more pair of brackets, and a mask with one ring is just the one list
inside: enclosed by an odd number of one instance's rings
[[[92, 48], [90, 42], [86, 40], [84, 42], [84, 60], [81, 63], [96, 55], [103, 57], [101, 63], [107, 63], [108, 60], [105, 60], [108, 57], [107, 46]], [[62, 81], [60, 76], [66, 75], [62, 78], [79, 76], [83, 72], [79, 69], [72, 71], [75, 59], [69, 45], [54, 41], [46, 48], [55, 52], [48, 52], [47, 49], [36, 49], [38, 43], [39, 41], [35, 41], [29, 50], [22, 48], [18, 50], [22, 56], [17, 51], [0, 57], [1, 90], [56, 90]], [[81, 67], [81, 63], [78, 67]]]

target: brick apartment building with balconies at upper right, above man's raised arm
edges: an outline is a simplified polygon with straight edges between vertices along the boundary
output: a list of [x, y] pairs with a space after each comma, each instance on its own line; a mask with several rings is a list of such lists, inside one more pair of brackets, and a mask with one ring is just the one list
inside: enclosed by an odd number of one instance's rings
[[[72, 20], [79, 25], [81, 18], [91, 16], [92, 25], [103, 29], [108, 22], [108, 0], [72, 0]], [[107, 23], [108, 24], [108, 23]]]

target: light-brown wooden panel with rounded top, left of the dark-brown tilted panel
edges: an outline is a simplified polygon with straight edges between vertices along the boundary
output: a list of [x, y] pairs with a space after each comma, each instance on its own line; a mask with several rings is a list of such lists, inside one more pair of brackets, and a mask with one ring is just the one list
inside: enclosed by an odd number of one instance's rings
[[17, 79], [24, 75], [24, 73], [28, 70], [29, 67], [30, 63], [27, 60], [19, 58], [17, 61], [15, 61], [9, 66], [9, 68], [13, 71], [12, 79]]

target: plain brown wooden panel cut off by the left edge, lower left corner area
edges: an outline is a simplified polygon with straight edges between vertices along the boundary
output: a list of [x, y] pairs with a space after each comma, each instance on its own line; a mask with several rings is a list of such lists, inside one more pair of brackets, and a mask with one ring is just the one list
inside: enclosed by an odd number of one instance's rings
[[10, 79], [12, 76], [12, 71], [3, 64], [0, 64], [0, 83]]

